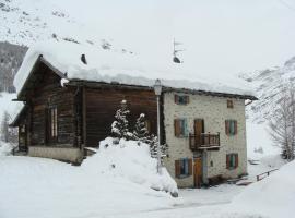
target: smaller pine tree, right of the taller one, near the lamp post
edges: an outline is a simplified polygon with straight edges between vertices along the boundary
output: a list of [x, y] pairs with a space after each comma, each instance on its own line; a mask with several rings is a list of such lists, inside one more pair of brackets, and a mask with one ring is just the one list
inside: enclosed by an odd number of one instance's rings
[[140, 117], [137, 119], [133, 136], [134, 136], [134, 140], [149, 144], [150, 138], [149, 138], [149, 131], [145, 125], [145, 121], [146, 120], [145, 120], [144, 113], [141, 113]]

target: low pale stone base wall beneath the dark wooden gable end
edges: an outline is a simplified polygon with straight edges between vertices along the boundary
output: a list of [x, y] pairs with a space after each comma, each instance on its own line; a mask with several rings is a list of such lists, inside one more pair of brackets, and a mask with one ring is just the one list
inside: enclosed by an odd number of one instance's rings
[[47, 147], [47, 146], [30, 146], [28, 155], [32, 157], [45, 157], [70, 162], [81, 162], [82, 152], [74, 147]]

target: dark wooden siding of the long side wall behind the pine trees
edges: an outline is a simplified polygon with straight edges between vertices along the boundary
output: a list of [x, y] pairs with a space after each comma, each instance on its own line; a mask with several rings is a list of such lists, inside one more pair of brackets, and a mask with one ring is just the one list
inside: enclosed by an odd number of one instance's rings
[[122, 99], [130, 110], [129, 124], [132, 130], [140, 113], [145, 113], [151, 132], [156, 134], [156, 98], [153, 90], [123, 88], [86, 88], [86, 146], [97, 146], [101, 140], [110, 135], [110, 125]]

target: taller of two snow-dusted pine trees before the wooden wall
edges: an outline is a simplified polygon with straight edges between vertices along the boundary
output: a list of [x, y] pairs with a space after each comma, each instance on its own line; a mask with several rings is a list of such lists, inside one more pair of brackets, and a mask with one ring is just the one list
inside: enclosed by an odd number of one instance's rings
[[129, 132], [128, 116], [130, 111], [127, 108], [127, 101], [121, 101], [121, 107], [116, 111], [116, 120], [111, 124], [111, 134], [117, 138], [130, 140], [132, 138], [132, 133]]

